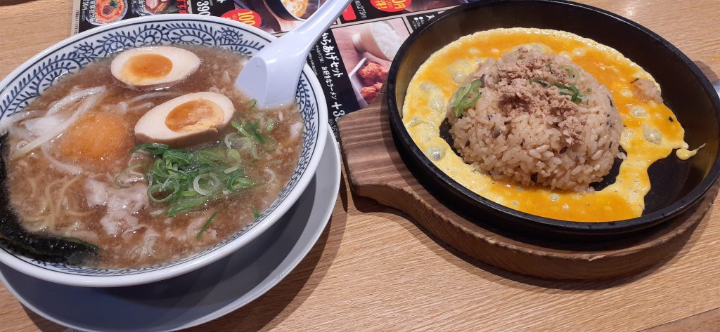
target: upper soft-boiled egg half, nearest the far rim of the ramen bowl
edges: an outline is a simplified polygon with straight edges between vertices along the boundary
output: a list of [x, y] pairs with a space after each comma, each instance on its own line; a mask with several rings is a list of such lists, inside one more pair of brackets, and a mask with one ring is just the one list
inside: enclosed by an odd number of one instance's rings
[[131, 88], [165, 88], [184, 80], [200, 66], [189, 50], [150, 46], [127, 50], [112, 60], [112, 75]]

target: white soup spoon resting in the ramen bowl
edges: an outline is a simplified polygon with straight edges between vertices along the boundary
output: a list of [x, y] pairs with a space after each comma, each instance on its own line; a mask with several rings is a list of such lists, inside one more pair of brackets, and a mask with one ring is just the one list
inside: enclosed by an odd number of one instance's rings
[[351, 0], [328, 0], [297, 29], [284, 34], [248, 60], [235, 86], [258, 106], [278, 106], [295, 100], [297, 81], [307, 53]]

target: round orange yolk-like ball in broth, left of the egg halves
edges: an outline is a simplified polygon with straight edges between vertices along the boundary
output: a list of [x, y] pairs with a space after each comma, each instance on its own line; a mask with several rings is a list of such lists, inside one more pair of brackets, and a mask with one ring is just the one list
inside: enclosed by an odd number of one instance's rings
[[127, 156], [132, 147], [125, 119], [112, 113], [86, 114], [62, 136], [63, 159], [106, 164]]

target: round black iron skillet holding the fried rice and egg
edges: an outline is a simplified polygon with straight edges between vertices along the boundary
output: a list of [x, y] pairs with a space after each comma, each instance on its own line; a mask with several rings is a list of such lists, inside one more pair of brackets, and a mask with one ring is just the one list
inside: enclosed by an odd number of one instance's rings
[[[623, 221], [578, 223], [543, 218], [501, 206], [464, 188], [418, 149], [402, 124], [400, 112], [410, 79], [433, 52], [464, 35], [499, 27], [564, 30], [614, 47], [660, 83], [662, 98], [685, 128], [685, 142], [690, 147], [703, 143], [706, 147], [690, 160], [680, 161], [672, 153], [649, 167], [652, 188], [645, 196], [644, 213]], [[680, 50], [654, 32], [583, 4], [490, 0], [446, 11], [436, 21], [413, 32], [400, 47], [387, 80], [387, 101], [395, 144], [420, 183], [471, 220], [511, 231], [553, 237], [629, 234], [693, 208], [720, 174], [720, 100], [707, 78]]]

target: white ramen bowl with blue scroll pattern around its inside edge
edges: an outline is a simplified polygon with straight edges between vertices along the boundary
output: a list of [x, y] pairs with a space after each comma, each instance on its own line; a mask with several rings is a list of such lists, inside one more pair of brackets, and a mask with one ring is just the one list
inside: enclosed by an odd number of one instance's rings
[[[247, 24], [217, 17], [166, 14], [108, 24], [58, 42], [27, 60], [0, 82], [0, 119], [22, 110], [58, 78], [84, 65], [145, 45], [206, 45], [252, 56], [275, 37]], [[300, 160], [287, 186], [271, 206], [245, 229], [190, 257], [140, 269], [95, 269], [50, 264], [0, 247], [0, 262], [32, 277], [65, 285], [118, 287], [175, 277], [204, 267], [248, 244], [278, 220], [310, 183], [323, 155], [328, 112], [323, 90], [305, 65], [297, 86], [305, 133]]]

